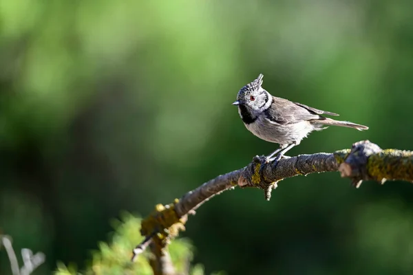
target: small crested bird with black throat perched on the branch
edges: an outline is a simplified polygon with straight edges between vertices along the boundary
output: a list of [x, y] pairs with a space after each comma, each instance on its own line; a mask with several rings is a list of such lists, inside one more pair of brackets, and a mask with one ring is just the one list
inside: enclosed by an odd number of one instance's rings
[[277, 150], [264, 157], [265, 162], [277, 163], [308, 134], [328, 126], [343, 126], [359, 131], [368, 129], [368, 126], [361, 124], [325, 117], [337, 113], [272, 96], [262, 88], [263, 78], [264, 75], [260, 74], [253, 82], [242, 87], [233, 105], [238, 107], [240, 118], [248, 131], [262, 140], [279, 144]]

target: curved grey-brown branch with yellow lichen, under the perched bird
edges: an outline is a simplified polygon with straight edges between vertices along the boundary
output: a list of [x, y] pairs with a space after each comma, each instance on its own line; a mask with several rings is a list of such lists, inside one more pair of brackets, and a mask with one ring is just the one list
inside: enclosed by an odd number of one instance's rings
[[[261, 188], [269, 200], [271, 190], [282, 179], [332, 171], [339, 171], [341, 177], [350, 178], [352, 185], [357, 188], [363, 180], [379, 181], [381, 184], [385, 180], [413, 182], [413, 152], [382, 150], [377, 144], [366, 140], [353, 144], [351, 150], [286, 157], [278, 163], [265, 163], [262, 162], [262, 157], [254, 157], [253, 162], [246, 167], [219, 175], [167, 206], [156, 206], [156, 211], [142, 221], [141, 228], [143, 236], [153, 237], [145, 239], [145, 245], [136, 247], [134, 257], [143, 251], [142, 247], [146, 247], [147, 243], [154, 243], [158, 248], [164, 249], [178, 235], [179, 230], [184, 229], [189, 214], [195, 214], [202, 203], [225, 190], [235, 186]], [[168, 273], [167, 270], [161, 270], [157, 274]]]

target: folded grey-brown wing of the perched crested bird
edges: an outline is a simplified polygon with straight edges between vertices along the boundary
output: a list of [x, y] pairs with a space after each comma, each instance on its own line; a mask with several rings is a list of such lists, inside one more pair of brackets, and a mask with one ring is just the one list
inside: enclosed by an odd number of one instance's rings
[[304, 104], [276, 97], [273, 97], [273, 104], [271, 104], [271, 107], [264, 111], [264, 113], [266, 120], [277, 124], [291, 124], [300, 121], [325, 119], [321, 114], [337, 115], [337, 113], [321, 111]]

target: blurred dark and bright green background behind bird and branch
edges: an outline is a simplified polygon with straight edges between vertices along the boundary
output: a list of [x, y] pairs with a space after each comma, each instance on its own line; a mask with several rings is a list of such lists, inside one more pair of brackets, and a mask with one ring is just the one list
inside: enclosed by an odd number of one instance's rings
[[[231, 106], [275, 96], [341, 114], [289, 155], [413, 149], [413, 2], [0, 0], [0, 228], [84, 267], [111, 219], [148, 214], [270, 153]], [[337, 173], [235, 189], [189, 219], [195, 262], [229, 274], [412, 274], [413, 188]], [[0, 273], [10, 274], [0, 251]]]

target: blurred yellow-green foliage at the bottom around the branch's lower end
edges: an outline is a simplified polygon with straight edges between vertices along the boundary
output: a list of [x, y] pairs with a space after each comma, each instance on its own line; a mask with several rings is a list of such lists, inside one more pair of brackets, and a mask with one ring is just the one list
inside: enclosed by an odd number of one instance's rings
[[[63, 263], [58, 263], [56, 275], [76, 275], [76, 274], [153, 274], [151, 266], [147, 261], [148, 254], [141, 254], [136, 259], [136, 262], [131, 263], [131, 251], [136, 247], [136, 244], [142, 241], [142, 236], [139, 234], [140, 219], [123, 214], [123, 221], [116, 220], [114, 227], [116, 232], [112, 236], [111, 243], [101, 242], [99, 250], [93, 252], [92, 263], [87, 270], [79, 273], [75, 266], [66, 267]], [[169, 254], [176, 272], [179, 274], [204, 274], [202, 265], [190, 267], [193, 259], [191, 245], [185, 239], [176, 239], [171, 242], [168, 247]], [[217, 274], [218, 275], [218, 274]]]

